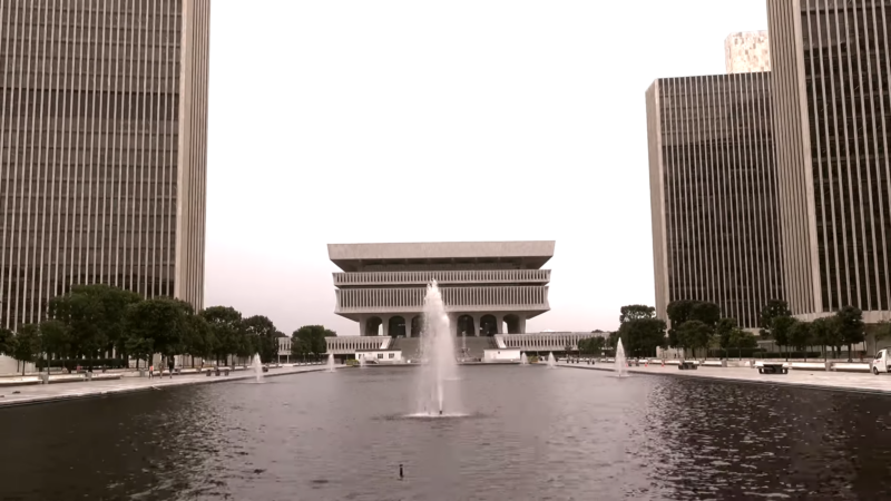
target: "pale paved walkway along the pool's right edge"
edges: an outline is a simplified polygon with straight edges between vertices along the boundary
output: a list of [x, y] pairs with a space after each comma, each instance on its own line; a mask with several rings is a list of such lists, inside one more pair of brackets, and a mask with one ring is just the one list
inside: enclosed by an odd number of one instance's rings
[[[558, 363], [560, 367], [586, 369], [594, 371], [614, 371], [613, 363], [597, 365]], [[629, 367], [633, 374], [663, 374], [678, 377], [698, 377], [705, 380], [723, 380], [754, 384], [785, 384], [817, 390], [838, 390], [862, 393], [880, 393], [891, 395], [891, 374], [874, 375], [872, 373], [826, 372], [816, 369], [793, 369], [789, 374], [758, 374], [757, 369], [750, 367], [699, 367], [695, 371], [682, 371], [677, 365], [650, 365], [648, 367]]]

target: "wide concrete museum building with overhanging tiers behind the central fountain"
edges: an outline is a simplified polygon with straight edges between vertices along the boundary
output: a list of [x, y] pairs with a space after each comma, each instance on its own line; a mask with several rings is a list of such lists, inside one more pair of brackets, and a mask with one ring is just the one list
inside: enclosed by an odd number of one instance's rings
[[[334, 313], [359, 324], [360, 336], [417, 337], [427, 284], [437, 281], [456, 335], [526, 332], [550, 310], [555, 242], [330, 244]], [[347, 350], [351, 350], [350, 346]]]

